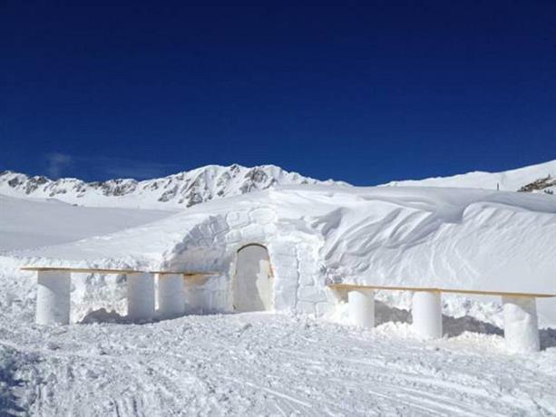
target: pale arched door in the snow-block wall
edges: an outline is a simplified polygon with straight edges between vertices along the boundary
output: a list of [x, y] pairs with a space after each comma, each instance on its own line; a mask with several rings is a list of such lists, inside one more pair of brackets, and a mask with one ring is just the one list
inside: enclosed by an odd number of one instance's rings
[[266, 247], [251, 244], [239, 248], [234, 279], [234, 310], [271, 310], [272, 278]]

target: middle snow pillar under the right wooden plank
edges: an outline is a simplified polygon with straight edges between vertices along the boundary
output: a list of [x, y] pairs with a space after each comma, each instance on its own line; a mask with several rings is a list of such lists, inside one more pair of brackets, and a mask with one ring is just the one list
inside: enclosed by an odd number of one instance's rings
[[411, 314], [413, 328], [425, 339], [442, 337], [442, 304], [439, 291], [415, 291]]

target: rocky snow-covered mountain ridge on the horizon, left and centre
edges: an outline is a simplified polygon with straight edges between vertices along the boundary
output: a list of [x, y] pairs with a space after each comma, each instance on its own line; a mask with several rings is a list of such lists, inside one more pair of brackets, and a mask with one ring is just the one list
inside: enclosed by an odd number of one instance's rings
[[[234, 164], [209, 165], [160, 179], [80, 179], [29, 177], [0, 172], [0, 193], [19, 198], [59, 199], [80, 206], [127, 208], [187, 208], [210, 199], [237, 196], [280, 185], [338, 184], [288, 172], [273, 165], [253, 168]], [[342, 183], [347, 185], [346, 183]]]

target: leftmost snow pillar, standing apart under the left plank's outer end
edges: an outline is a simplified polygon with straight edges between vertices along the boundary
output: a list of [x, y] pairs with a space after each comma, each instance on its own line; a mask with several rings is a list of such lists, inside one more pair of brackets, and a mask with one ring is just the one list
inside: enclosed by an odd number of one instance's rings
[[38, 271], [37, 284], [37, 325], [69, 325], [71, 273], [57, 270]]

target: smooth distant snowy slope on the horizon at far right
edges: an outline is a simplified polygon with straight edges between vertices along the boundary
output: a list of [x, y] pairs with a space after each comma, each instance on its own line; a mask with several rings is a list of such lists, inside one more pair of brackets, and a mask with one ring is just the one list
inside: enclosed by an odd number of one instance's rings
[[[550, 178], [548, 178], [550, 177]], [[540, 189], [530, 191], [556, 190], [556, 160], [503, 172], [469, 172], [453, 177], [437, 177], [418, 180], [392, 181], [386, 186], [393, 187], [456, 187], [468, 189], [497, 189], [518, 191], [528, 185], [545, 179]]]

